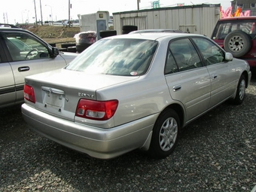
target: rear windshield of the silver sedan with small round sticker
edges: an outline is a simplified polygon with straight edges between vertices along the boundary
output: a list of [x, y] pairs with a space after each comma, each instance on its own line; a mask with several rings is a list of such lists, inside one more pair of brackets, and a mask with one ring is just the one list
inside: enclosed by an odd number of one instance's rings
[[66, 69], [89, 74], [144, 75], [157, 44], [142, 39], [102, 39], [84, 50]]

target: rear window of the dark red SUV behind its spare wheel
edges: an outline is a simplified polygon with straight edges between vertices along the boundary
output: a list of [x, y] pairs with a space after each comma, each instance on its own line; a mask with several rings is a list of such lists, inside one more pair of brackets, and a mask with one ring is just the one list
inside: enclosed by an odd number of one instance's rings
[[256, 20], [227, 20], [218, 22], [212, 34], [213, 39], [224, 39], [228, 33], [241, 30], [254, 38], [256, 35]]

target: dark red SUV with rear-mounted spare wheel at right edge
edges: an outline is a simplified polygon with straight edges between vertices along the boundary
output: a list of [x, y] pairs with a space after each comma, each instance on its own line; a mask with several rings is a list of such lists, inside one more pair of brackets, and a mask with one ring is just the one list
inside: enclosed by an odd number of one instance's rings
[[234, 57], [256, 67], [256, 17], [230, 17], [218, 20], [212, 39]]

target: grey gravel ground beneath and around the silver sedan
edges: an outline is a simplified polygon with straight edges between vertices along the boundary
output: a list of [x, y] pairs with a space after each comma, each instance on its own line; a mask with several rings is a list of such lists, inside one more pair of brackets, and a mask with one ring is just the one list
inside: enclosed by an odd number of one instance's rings
[[242, 105], [225, 102], [190, 123], [163, 160], [139, 150], [92, 159], [29, 130], [20, 105], [1, 109], [0, 191], [252, 191], [255, 109], [253, 78]]

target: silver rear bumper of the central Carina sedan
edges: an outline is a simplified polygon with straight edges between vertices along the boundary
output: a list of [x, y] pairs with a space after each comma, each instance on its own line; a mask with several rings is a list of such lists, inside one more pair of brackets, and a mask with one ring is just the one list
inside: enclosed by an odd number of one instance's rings
[[148, 149], [157, 114], [102, 129], [75, 123], [38, 111], [26, 103], [23, 118], [32, 130], [48, 139], [100, 159], [117, 157], [136, 148]]

